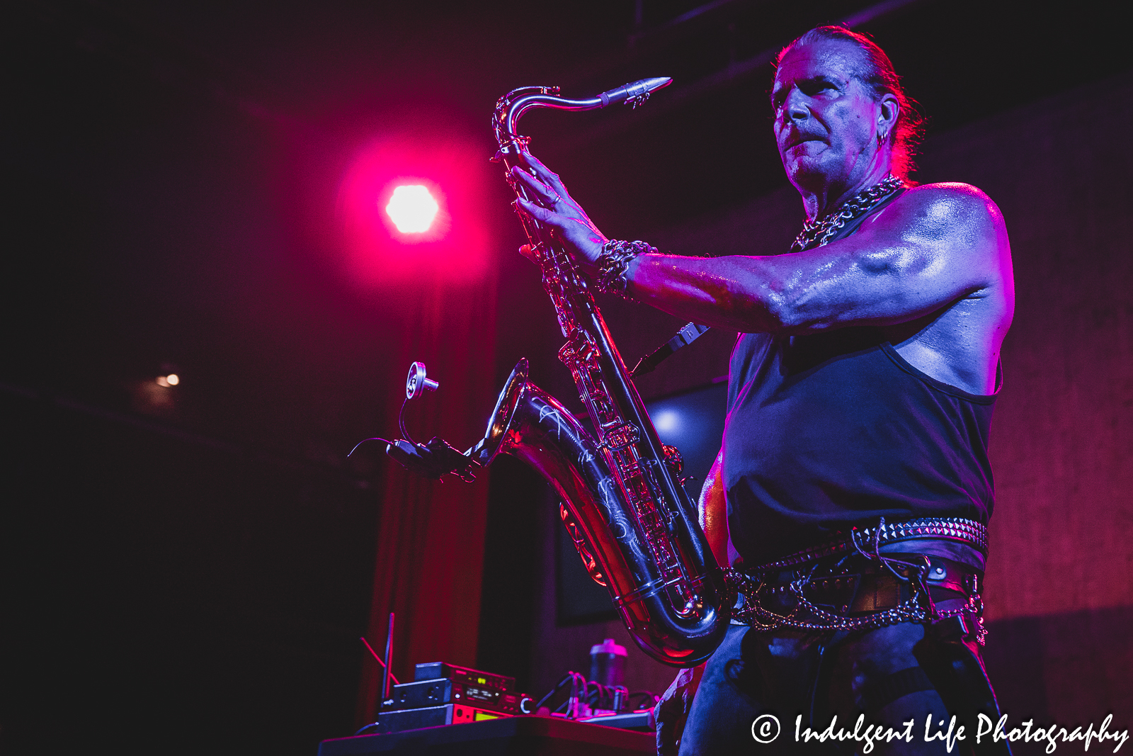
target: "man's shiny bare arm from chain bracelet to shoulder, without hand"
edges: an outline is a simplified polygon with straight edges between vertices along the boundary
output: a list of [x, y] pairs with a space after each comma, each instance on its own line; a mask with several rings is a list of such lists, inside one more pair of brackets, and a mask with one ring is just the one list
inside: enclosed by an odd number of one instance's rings
[[986, 195], [931, 185], [910, 189], [853, 236], [808, 252], [642, 255], [630, 266], [630, 292], [674, 315], [747, 333], [891, 325], [1002, 284], [1006, 249], [1003, 219]]

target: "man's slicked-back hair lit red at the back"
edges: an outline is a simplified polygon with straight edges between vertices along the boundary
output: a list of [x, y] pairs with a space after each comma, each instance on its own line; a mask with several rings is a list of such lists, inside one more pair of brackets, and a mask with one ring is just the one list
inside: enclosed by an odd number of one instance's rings
[[913, 156], [925, 130], [925, 119], [917, 110], [917, 102], [905, 94], [901, 86], [901, 77], [893, 70], [893, 63], [885, 51], [864, 34], [851, 32], [844, 26], [816, 26], [791, 44], [780, 50], [775, 57], [775, 66], [787, 52], [796, 46], [811, 44], [821, 40], [850, 42], [861, 50], [863, 66], [854, 76], [868, 86], [874, 96], [880, 99], [889, 93], [897, 100], [897, 125], [885, 136], [892, 147], [892, 171], [900, 179], [909, 180], [909, 173], [917, 170]]

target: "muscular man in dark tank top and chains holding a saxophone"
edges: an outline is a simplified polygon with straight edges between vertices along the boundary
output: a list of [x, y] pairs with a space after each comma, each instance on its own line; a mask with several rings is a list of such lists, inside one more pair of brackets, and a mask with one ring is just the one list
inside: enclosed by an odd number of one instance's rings
[[[995, 719], [979, 592], [1014, 307], [1007, 233], [979, 189], [908, 180], [918, 119], [867, 37], [802, 35], [780, 54], [770, 100], [808, 218], [784, 254], [758, 238], [726, 257], [611, 240], [540, 162], [513, 169], [539, 201], [519, 212], [554, 229], [599, 290], [740, 334], [700, 518], [743, 602], [702, 674], [671, 688], [658, 745], [815, 749], [794, 742], [796, 716], [851, 730], [863, 713], [897, 731], [917, 722], [915, 738], [875, 753], [944, 753], [921, 737], [927, 720], [955, 713], [972, 733], [978, 712]], [[757, 746], [767, 714], [783, 734]]]

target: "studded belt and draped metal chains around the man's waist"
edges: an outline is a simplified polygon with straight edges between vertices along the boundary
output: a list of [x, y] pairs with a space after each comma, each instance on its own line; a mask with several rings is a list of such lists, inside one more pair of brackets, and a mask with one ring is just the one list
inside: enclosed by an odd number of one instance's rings
[[[725, 570], [725, 578], [742, 596], [742, 604], [733, 611], [733, 619], [766, 631], [781, 628], [871, 630], [898, 622], [930, 625], [959, 617], [962, 622], [966, 620], [974, 626], [972, 630], [976, 639], [983, 645], [987, 630], [983, 628], [983, 600], [980, 596], [982, 576], [978, 571], [951, 560], [938, 559], [935, 570], [943, 570], [939, 564], [946, 562], [948, 571], [962, 572], [960, 580], [953, 576], [944, 584], [934, 580], [930, 574], [934, 563], [929, 558], [915, 554], [885, 557], [879, 551], [881, 545], [888, 543], [922, 537], [957, 541], [987, 555], [987, 528], [974, 520], [937, 517], [887, 525], [881, 518], [876, 528], [853, 528], [843, 540], [760, 564], [748, 572]], [[851, 554], [869, 560], [866, 569], [859, 570], [857, 575], [844, 567], [846, 559], [835, 562], [836, 558]], [[912, 561], [906, 561], [909, 558]], [[894, 601], [893, 605], [884, 609], [852, 612], [849, 605], [820, 606], [803, 593], [804, 589], [828, 589], [832, 585], [850, 591], [851, 581], [857, 589], [858, 580], [864, 575], [872, 576], [875, 584], [881, 580], [895, 588], [900, 586], [901, 593], [908, 595], [908, 598]], [[940, 610], [932, 600], [930, 588], [934, 587], [953, 591], [961, 588], [959, 594], [965, 596], [965, 602], [959, 608]], [[778, 611], [768, 608], [768, 603]]]

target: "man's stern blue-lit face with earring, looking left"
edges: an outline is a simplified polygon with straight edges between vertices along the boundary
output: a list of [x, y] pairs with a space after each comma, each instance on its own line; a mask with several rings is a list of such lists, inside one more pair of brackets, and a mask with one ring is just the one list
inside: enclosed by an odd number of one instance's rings
[[[854, 74], [864, 65], [858, 45], [820, 40], [796, 46], [780, 63], [772, 88], [775, 141], [786, 175], [800, 189], [852, 186], [876, 164], [876, 102]], [[894, 103], [895, 104], [895, 103]]]

